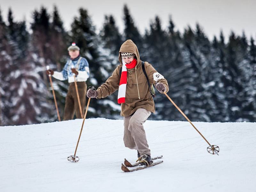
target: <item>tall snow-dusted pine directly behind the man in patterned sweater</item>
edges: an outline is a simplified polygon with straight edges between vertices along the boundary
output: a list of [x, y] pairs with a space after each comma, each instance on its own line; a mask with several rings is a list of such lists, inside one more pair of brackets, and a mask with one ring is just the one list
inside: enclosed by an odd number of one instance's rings
[[[93, 85], [96, 88], [104, 83], [111, 74], [109, 70], [113, 67], [111, 63], [106, 62], [110, 52], [104, 50], [101, 45], [99, 36], [95, 33], [95, 27], [87, 10], [80, 8], [79, 17], [75, 18], [71, 24], [72, 41], [80, 47], [81, 56], [85, 57], [89, 62], [90, 78], [87, 80], [87, 85]], [[112, 71], [111, 71], [112, 72]], [[113, 96], [112, 96], [113, 97]], [[111, 98], [111, 97], [110, 97]], [[109, 106], [108, 99], [95, 100], [90, 104], [91, 110], [88, 116], [111, 117], [112, 111], [115, 110]], [[104, 101], [107, 101], [104, 103]], [[93, 114], [92, 114], [92, 113]]]

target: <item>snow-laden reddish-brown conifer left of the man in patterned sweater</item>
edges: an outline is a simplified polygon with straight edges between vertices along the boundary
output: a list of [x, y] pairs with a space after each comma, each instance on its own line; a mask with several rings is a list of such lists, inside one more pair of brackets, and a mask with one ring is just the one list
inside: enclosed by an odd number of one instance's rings
[[36, 62], [32, 57], [32, 46], [29, 44], [27, 46], [26, 58], [19, 63], [22, 67], [13, 69], [10, 74], [12, 76], [9, 116], [11, 125], [44, 123], [56, 119], [52, 110], [54, 104], [47, 100], [50, 95], [49, 92], [45, 92], [44, 81], [38, 73], [35, 73]]

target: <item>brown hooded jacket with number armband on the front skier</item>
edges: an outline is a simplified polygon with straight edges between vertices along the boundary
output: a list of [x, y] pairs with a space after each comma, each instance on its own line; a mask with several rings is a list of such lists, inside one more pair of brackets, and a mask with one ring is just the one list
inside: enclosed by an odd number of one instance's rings
[[[125, 41], [120, 48], [119, 61], [121, 64], [116, 67], [112, 76], [110, 76], [107, 81], [97, 89], [97, 92], [99, 93], [97, 99], [107, 97], [108, 95], [111, 95], [116, 90], [118, 90], [120, 82], [119, 71], [122, 68], [122, 57], [120, 52], [133, 52], [137, 57], [137, 65], [135, 70], [132, 71], [132, 76], [129, 76], [129, 73], [127, 75], [125, 103], [121, 103], [121, 116], [130, 116], [138, 108], [144, 108], [148, 111], [151, 111], [152, 113], [155, 113], [155, 103], [149, 92], [147, 78], [142, 70], [138, 48], [130, 39]], [[148, 62], [145, 62], [145, 70], [148, 75], [150, 85], [155, 85], [157, 80], [157, 83], [164, 84], [166, 87], [166, 92], [168, 92], [169, 87], [166, 79], [164, 79], [163, 76], [161, 78], [161, 75]], [[136, 76], [138, 84], [136, 81]], [[157, 78], [159, 76], [160, 79]]]

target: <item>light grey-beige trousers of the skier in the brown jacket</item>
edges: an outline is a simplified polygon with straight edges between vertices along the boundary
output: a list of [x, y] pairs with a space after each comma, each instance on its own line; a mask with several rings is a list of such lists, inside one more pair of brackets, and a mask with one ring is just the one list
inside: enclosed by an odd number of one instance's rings
[[124, 117], [124, 146], [138, 149], [140, 155], [151, 155], [143, 127], [150, 114], [150, 111], [139, 108], [133, 115]]

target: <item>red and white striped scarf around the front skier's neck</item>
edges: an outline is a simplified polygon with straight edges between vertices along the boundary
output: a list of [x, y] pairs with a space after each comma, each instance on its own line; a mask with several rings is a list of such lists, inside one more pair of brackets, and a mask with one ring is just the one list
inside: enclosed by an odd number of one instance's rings
[[122, 73], [120, 77], [120, 83], [119, 83], [119, 89], [118, 89], [118, 97], [117, 102], [125, 103], [125, 92], [126, 92], [126, 84], [127, 84], [127, 68], [132, 69], [135, 68], [137, 65], [137, 60], [134, 59], [130, 64], [126, 64], [124, 60], [122, 60], [123, 66], [122, 66]]

